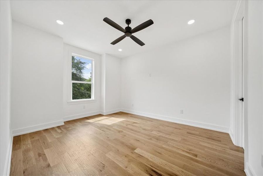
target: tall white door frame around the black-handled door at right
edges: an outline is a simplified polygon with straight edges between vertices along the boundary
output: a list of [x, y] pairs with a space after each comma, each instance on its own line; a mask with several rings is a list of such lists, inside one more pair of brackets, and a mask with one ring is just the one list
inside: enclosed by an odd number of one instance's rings
[[[233, 134], [235, 145], [245, 148], [247, 126], [246, 1], [239, 1], [233, 18]], [[244, 101], [238, 99], [243, 97]], [[230, 127], [231, 128], [231, 127]]]

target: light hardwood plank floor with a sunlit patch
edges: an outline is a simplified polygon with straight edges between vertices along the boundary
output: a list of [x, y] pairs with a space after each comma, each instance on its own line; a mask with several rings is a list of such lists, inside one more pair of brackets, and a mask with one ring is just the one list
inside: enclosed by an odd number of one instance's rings
[[10, 175], [245, 175], [228, 133], [128, 113], [15, 136]]

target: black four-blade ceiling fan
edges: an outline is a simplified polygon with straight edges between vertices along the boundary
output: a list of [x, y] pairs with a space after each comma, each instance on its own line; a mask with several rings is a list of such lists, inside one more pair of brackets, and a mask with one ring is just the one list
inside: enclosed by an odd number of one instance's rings
[[145, 21], [144, 23], [141, 23], [139, 26], [136, 26], [135, 28], [131, 29], [131, 27], [129, 27], [129, 24], [131, 24], [131, 20], [130, 19], [126, 19], [125, 22], [128, 25], [127, 27], [122, 28], [121, 26], [119, 26], [117, 23], [115, 23], [114, 21], [112, 21], [111, 19], [105, 17], [103, 19], [103, 21], [105, 21], [106, 23], [108, 23], [110, 26], [114, 27], [115, 29], [118, 29], [119, 31], [122, 31], [124, 33], [124, 35], [120, 36], [119, 38], [117, 38], [116, 40], [114, 40], [112, 43], [112, 45], [115, 45], [116, 43], [120, 42], [121, 40], [123, 40], [125, 37], [130, 37], [134, 42], [138, 43], [139, 45], [143, 46], [145, 45], [139, 38], [135, 37], [134, 35], [132, 35], [133, 33], [136, 33], [138, 31], [143, 30], [144, 28], [147, 28], [148, 26], [151, 26], [153, 24], [152, 20], [148, 20]]

